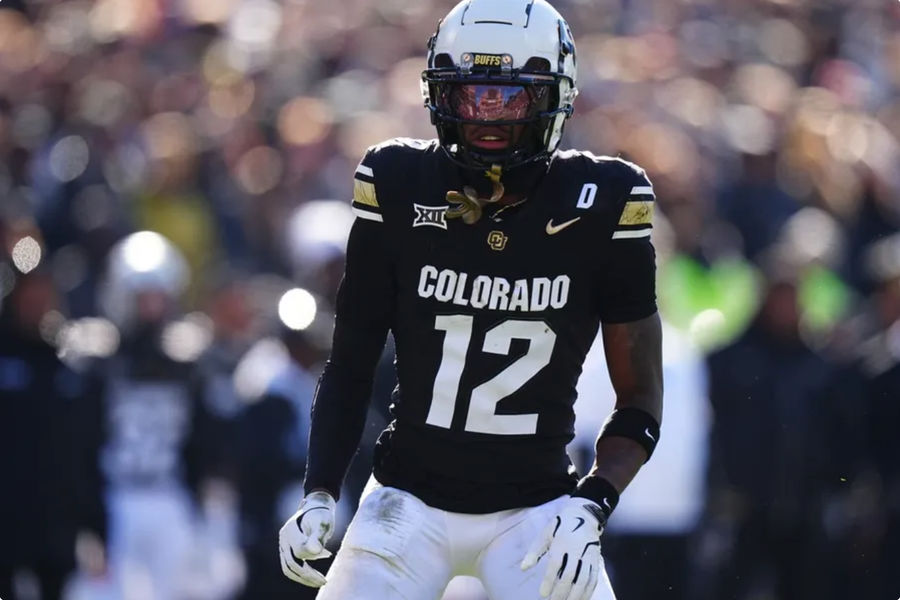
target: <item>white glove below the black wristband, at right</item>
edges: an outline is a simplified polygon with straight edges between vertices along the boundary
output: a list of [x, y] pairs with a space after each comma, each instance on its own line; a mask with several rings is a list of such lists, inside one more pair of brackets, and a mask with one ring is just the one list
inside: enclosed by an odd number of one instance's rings
[[523, 571], [530, 569], [547, 554], [541, 597], [589, 600], [600, 574], [600, 534], [605, 526], [606, 514], [595, 502], [586, 498], [565, 501], [520, 565]]

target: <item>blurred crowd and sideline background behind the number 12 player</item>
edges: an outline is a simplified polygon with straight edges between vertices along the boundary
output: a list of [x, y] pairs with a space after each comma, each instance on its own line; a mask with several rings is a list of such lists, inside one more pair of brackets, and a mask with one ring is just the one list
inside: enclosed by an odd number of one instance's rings
[[[276, 537], [352, 173], [433, 137], [452, 4], [0, 1], [0, 597], [314, 596]], [[663, 438], [603, 538], [619, 597], [896, 599], [900, 3], [556, 5], [563, 145], [638, 162], [660, 209]], [[582, 468], [614, 400], [597, 350]]]

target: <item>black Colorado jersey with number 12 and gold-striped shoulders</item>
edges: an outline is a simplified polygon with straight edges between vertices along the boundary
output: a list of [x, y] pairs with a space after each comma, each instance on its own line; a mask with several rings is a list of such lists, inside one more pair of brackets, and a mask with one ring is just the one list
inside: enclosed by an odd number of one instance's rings
[[338, 319], [396, 340], [381, 483], [454, 512], [533, 506], [577, 481], [566, 445], [600, 323], [656, 312], [653, 189], [629, 162], [575, 151], [474, 224], [447, 217], [462, 187], [436, 141], [367, 152]]

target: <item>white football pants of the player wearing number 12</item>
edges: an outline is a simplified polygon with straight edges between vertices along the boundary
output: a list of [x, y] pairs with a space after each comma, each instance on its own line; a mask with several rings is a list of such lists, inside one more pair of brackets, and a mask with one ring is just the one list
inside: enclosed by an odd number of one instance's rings
[[[317, 598], [439, 600], [453, 577], [470, 575], [491, 600], [540, 600], [546, 558], [527, 571], [519, 564], [565, 498], [471, 515], [371, 479]], [[602, 559], [600, 568], [591, 600], [615, 600]]]

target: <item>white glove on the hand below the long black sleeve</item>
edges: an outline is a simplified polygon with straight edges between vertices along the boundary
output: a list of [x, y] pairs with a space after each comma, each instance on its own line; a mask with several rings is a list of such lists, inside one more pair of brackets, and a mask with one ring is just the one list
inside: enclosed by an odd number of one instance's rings
[[331, 494], [313, 492], [281, 527], [278, 551], [288, 579], [310, 587], [325, 585], [325, 576], [306, 561], [331, 556], [325, 544], [334, 532], [334, 504]]

